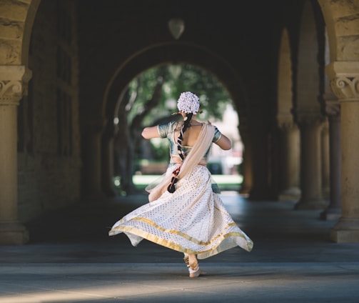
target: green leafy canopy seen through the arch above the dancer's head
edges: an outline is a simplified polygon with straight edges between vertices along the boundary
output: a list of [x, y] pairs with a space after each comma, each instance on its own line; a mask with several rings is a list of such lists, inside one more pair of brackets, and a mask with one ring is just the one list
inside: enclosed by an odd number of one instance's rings
[[176, 112], [176, 101], [183, 91], [192, 91], [200, 98], [203, 113], [198, 116], [202, 120], [210, 116], [221, 119], [226, 104], [231, 102], [230, 96], [218, 79], [198, 66], [189, 64], [157, 66], [144, 71], [129, 84], [129, 95], [136, 94], [136, 101], [128, 110], [128, 122], [131, 123], [134, 116], [146, 110], [146, 101], [152, 98], [158, 81], [162, 82], [161, 98], [158, 106], [148, 111], [143, 118], [143, 126], [154, 125], [158, 119]]

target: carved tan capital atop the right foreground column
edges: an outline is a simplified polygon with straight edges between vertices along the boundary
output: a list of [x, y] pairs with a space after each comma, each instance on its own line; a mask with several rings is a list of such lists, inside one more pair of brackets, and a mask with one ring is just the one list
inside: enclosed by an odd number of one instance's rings
[[359, 62], [335, 61], [325, 68], [330, 86], [340, 102], [359, 99]]

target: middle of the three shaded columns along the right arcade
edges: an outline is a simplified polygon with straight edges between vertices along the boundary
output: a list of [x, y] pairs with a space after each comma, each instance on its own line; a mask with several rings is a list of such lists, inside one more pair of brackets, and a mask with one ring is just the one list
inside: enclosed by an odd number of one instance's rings
[[300, 128], [300, 188], [301, 197], [295, 209], [324, 209], [327, 202], [322, 197], [322, 172], [320, 159], [319, 116], [301, 116]]

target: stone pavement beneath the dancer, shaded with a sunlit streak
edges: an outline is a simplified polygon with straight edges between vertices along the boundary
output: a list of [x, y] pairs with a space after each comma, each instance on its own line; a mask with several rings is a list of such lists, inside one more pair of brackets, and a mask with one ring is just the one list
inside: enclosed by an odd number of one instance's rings
[[200, 260], [206, 275], [190, 279], [181, 253], [107, 236], [145, 196], [86, 202], [29, 222], [29, 244], [0, 246], [0, 302], [359, 302], [359, 244], [330, 242], [321, 210], [221, 196], [254, 248]]

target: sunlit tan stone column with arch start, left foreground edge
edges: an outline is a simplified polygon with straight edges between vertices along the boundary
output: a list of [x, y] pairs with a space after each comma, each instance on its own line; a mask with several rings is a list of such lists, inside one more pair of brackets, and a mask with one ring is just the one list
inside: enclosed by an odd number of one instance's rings
[[31, 28], [40, 0], [0, 4], [0, 244], [24, 244], [29, 234], [18, 221], [17, 106], [31, 79]]

